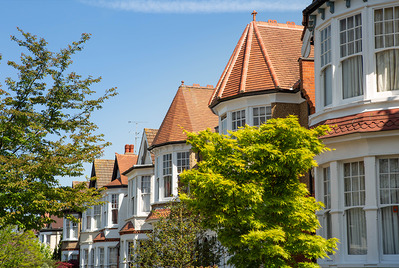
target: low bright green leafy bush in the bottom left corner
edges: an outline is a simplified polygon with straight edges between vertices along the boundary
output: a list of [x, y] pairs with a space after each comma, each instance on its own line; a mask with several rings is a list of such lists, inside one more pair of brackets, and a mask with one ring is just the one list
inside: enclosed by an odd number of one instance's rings
[[53, 267], [50, 249], [32, 231], [20, 232], [7, 225], [0, 229], [0, 267]]

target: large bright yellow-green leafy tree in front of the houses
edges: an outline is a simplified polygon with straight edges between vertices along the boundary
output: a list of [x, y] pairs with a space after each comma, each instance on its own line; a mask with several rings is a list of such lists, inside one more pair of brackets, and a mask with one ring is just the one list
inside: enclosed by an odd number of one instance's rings
[[337, 239], [314, 235], [323, 205], [299, 181], [328, 150], [318, 139], [328, 129], [305, 129], [290, 116], [230, 135], [187, 134], [202, 161], [181, 174], [191, 190], [181, 198], [217, 233], [236, 267], [318, 267], [310, 260], [336, 248]]

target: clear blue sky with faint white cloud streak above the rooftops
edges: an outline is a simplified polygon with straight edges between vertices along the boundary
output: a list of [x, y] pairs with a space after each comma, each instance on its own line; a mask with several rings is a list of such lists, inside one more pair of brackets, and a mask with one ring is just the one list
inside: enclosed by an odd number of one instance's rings
[[[98, 96], [117, 87], [118, 95], [93, 114], [98, 133], [112, 143], [103, 159], [124, 153], [135, 144], [136, 132], [159, 128], [184, 81], [186, 85], [216, 85], [245, 26], [256, 10], [258, 21], [301, 24], [311, 0], [0, 0], [0, 83], [13, 71], [21, 37], [17, 27], [43, 37], [53, 51], [91, 39], [74, 55], [71, 71], [102, 77], [92, 87]], [[135, 123], [137, 122], [137, 124]], [[137, 148], [138, 149], [138, 148]], [[90, 176], [91, 163], [85, 164]], [[70, 186], [79, 178], [60, 178]]]

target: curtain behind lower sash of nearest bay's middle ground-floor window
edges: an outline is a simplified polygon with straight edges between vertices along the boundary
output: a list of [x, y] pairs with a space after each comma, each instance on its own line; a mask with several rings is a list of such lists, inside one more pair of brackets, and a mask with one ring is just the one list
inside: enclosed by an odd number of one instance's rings
[[352, 208], [346, 211], [348, 231], [348, 254], [367, 254], [366, 215], [363, 208]]

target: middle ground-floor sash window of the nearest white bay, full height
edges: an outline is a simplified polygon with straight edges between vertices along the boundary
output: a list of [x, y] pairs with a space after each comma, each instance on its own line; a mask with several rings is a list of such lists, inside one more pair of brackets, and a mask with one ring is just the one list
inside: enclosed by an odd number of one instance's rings
[[367, 254], [364, 162], [344, 164], [344, 206], [349, 255]]

